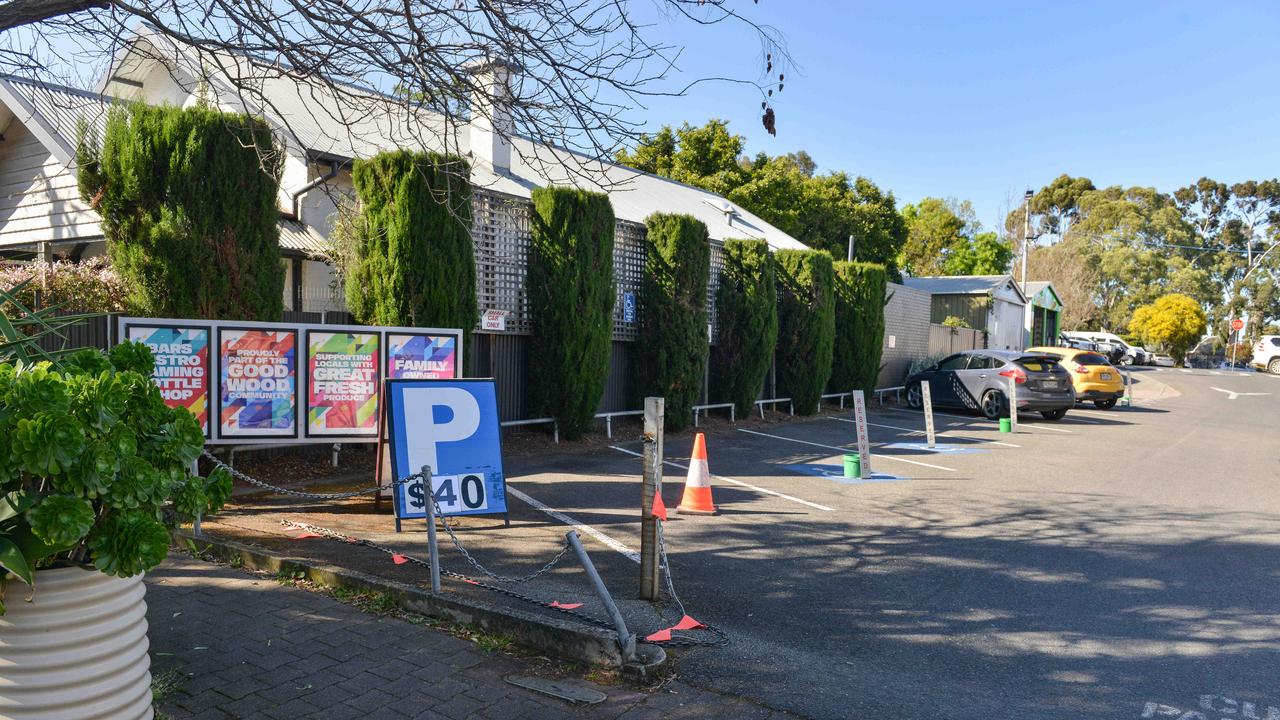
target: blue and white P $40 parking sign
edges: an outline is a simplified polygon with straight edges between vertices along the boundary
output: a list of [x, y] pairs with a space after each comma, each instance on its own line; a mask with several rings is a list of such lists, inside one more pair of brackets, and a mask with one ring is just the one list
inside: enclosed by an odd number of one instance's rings
[[[507, 512], [493, 380], [388, 380], [387, 410], [397, 478], [429, 465], [442, 515]], [[421, 480], [396, 486], [393, 497], [397, 518], [426, 516]]]

